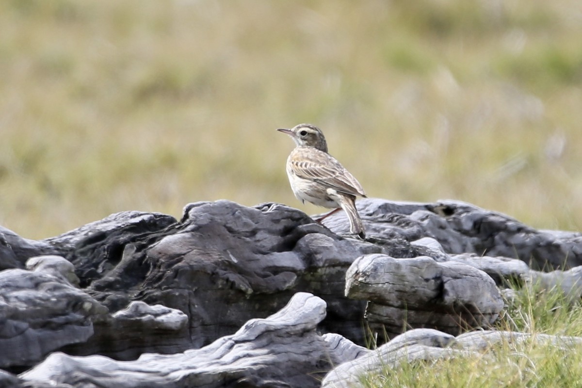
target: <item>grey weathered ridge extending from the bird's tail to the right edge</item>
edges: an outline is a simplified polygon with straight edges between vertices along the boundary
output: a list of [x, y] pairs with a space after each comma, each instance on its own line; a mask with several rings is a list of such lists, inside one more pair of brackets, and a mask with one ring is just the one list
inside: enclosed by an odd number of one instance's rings
[[[538, 270], [582, 265], [582, 234], [535, 230], [502, 213], [471, 204], [368, 198], [356, 205], [369, 240], [399, 237], [414, 241], [432, 237], [448, 254], [521, 259]], [[327, 218], [325, 225], [335, 233], [347, 233], [343, 212]]]

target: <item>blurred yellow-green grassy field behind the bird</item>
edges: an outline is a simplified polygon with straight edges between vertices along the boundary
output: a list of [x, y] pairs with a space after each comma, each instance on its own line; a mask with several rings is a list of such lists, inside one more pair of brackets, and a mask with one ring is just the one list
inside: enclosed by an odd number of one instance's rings
[[314, 123], [370, 197], [582, 226], [575, 0], [0, 2], [0, 225], [282, 202]]

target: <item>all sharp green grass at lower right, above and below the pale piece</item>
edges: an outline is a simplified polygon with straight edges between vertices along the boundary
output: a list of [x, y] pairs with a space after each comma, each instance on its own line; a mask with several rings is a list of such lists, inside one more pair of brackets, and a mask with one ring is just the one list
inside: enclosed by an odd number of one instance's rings
[[361, 386], [382, 387], [577, 387], [582, 385], [582, 346], [559, 348], [538, 334], [582, 335], [582, 305], [558, 290], [519, 290], [496, 324], [531, 334], [522, 343], [502, 341], [470, 357], [403, 361], [361, 377]]

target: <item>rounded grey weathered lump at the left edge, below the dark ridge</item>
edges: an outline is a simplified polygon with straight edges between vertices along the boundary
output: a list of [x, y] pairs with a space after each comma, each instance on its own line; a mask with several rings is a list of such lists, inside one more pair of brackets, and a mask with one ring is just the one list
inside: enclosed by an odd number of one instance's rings
[[91, 318], [107, 309], [69, 283], [69, 265], [64, 258], [36, 257], [29, 264], [34, 270], [0, 272], [1, 368], [33, 365], [93, 334]]

